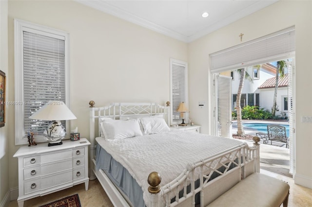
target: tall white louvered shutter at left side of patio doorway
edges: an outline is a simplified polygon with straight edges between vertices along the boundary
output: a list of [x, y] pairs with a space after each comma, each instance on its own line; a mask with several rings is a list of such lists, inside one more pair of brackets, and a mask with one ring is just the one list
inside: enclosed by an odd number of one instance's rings
[[216, 95], [217, 95], [217, 119], [218, 136], [232, 138], [232, 101], [231, 101], [231, 83], [232, 77], [216, 76]]

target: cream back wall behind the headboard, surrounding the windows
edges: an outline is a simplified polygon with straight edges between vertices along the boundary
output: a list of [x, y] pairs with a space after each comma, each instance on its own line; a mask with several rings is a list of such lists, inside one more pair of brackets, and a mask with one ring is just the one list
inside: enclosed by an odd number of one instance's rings
[[[14, 101], [13, 18], [70, 34], [71, 110], [81, 137], [89, 138], [89, 101], [170, 100], [170, 58], [187, 62], [187, 44], [84, 6], [76, 1], [9, 0], [9, 93]], [[14, 117], [14, 108], [10, 114]], [[70, 129], [67, 129], [68, 131]], [[14, 123], [10, 125], [14, 140]], [[19, 146], [10, 143], [13, 156]], [[18, 186], [17, 159], [10, 156], [10, 186]]]

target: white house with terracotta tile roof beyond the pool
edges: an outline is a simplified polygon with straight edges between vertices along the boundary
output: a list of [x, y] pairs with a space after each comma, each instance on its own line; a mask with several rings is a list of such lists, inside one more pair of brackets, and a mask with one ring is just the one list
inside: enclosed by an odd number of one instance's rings
[[[260, 69], [248, 67], [246, 72], [252, 77], [253, 82], [245, 79], [240, 102], [241, 107], [246, 105], [258, 105], [260, 108], [271, 111], [273, 106], [276, 67], [267, 63], [261, 65]], [[231, 76], [233, 77], [232, 109], [234, 110], [240, 74], [234, 70], [231, 71]], [[286, 75], [282, 80], [279, 80], [276, 97], [279, 111], [277, 111], [276, 115], [280, 115], [281, 112], [287, 112], [287, 86], [288, 76]]]

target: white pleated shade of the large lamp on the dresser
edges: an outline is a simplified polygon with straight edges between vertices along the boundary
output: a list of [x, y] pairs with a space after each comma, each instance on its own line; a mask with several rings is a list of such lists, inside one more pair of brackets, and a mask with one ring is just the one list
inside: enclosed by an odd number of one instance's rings
[[46, 121], [61, 121], [61, 120], [75, 120], [77, 117], [71, 112], [64, 102], [49, 101], [48, 104], [43, 105], [36, 113], [31, 115], [29, 119], [46, 120]]

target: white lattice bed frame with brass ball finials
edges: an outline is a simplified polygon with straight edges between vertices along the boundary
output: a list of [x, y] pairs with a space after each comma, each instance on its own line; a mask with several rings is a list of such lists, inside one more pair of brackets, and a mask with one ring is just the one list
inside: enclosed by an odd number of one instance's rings
[[[166, 106], [161, 106], [156, 103], [114, 103], [105, 107], [95, 107], [94, 101], [90, 101], [90, 180], [98, 178], [99, 183], [107, 193], [114, 206], [129, 207], [131, 202], [126, 200], [126, 196], [113, 184], [109, 177], [102, 171], [96, 169], [95, 162], [95, 132], [98, 131], [99, 135], [99, 119], [101, 117], [110, 117], [112, 119], [121, 119], [124, 117], [138, 117], [148, 115], [164, 115], [164, 119], [170, 125], [170, 103], [167, 102]], [[97, 122], [98, 121], [98, 122]], [[96, 124], [97, 122], [97, 124]], [[97, 129], [98, 128], [98, 129]], [[200, 192], [200, 206], [209, 204], [222, 193], [233, 187], [241, 179], [244, 179], [251, 173], [259, 172], [260, 159], [259, 159], [259, 142], [260, 139], [254, 137], [254, 147], [248, 147], [246, 143], [238, 145], [234, 148], [220, 152], [217, 155], [200, 160], [193, 165], [190, 165], [183, 171], [175, 180], [160, 187], [160, 175], [152, 172], [148, 177], [150, 187], [149, 191], [149, 206], [161, 206], [161, 199], [166, 199], [166, 206], [185, 206], [195, 207], [195, 194]], [[239, 159], [238, 157], [242, 157]], [[236, 161], [235, 161], [236, 160]], [[230, 164], [234, 165], [230, 169]], [[217, 169], [223, 166], [225, 171], [219, 172]], [[195, 169], [200, 169], [199, 180], [200, 186], [195, 188]], [[209, 169], [210, 173], [205, 175], [204, 169]], [[212, 181], [208, 182], [212, 173], [218, 173], [219, 176]], [[191, 184], [191, 192], [186, 193], [186, 186]], [[171, 203], [172, 193], [178, 194], [179, 187], [183, 186], [184, 194], [181, 198], [176, 196], [176, 201]], [[216, 188], [217, 187], [217, 188]], [[218, 189], [218, 190], [216, 190]]]

